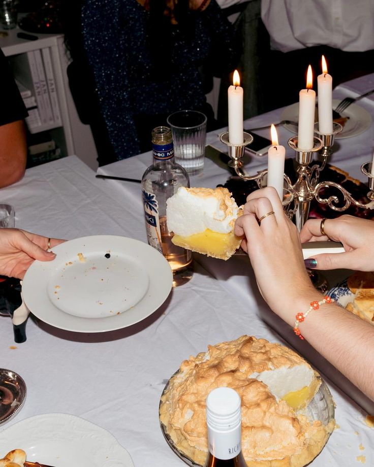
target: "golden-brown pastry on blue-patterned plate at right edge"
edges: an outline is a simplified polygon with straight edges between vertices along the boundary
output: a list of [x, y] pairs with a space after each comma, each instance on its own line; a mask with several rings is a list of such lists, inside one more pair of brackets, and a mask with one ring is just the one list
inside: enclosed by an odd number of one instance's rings
[[355, 295], [346, 309], [374, 324], [374, 273], [356, 271], [348, 278], [347, 285]]

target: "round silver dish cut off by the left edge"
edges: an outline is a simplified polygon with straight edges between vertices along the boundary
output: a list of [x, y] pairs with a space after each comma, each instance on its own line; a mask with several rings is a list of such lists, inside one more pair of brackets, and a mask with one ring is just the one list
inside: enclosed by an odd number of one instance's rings
[[21, 410], [26, 392], [26, 384], [16, 372], [0, 368], [0, 424]]

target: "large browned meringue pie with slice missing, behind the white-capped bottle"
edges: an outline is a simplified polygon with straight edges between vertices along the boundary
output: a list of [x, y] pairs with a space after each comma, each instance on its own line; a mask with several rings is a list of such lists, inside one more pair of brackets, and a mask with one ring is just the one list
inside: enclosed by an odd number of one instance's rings
[[301, 467], [321, 451], [334, 421], [310, 421], [291, 406], [307, 406], [320, 384], [320, 376], [292, 350], [241, 336], [181, 363], [161, 397], [160, 420], [176, 448], [204, 464], [205, 399], [212, 389], [228, 386], [242, 401], [248, 467]]

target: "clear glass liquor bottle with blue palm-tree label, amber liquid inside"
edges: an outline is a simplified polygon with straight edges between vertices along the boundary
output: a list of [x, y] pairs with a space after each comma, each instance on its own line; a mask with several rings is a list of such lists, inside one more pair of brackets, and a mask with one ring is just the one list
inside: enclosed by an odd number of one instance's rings
[[166, 200], [180, 186], [189, 187], [189, 176], [174, 160], [171, 129], [158, 126], [152, 130], [153, 164], [144, 172], [142, 193], [148, 243], [169, 261], [173, 287], [188, 282], [193, 274], [192, 253], [174, 245], [166, 219]]

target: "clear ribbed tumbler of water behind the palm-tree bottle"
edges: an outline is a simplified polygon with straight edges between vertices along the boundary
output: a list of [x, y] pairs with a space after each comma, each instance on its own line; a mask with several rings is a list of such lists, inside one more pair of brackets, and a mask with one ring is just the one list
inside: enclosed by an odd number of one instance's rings
[[206, 116], [196, 110], [181, 110], [169, 115], [173, 133], [174, 157], [190, 175], [204, 169]]

